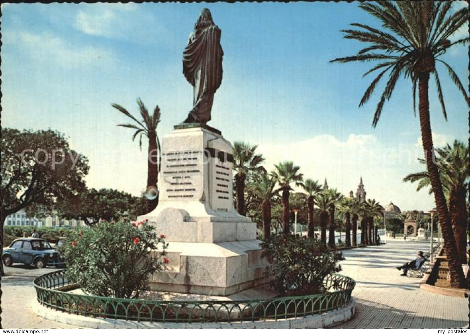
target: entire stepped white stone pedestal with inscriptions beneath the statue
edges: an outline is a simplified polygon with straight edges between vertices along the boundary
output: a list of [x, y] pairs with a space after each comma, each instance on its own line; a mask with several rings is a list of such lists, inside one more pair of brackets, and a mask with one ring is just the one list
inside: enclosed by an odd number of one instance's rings
[[159, 203], [139, 217], [170, 243], [170, 265], [152, 277], [152, 288], [230, 295], [264, 282], [256, 225], [234, 208], [232, 154], [220, 132], [204, 125], [164, 136]]

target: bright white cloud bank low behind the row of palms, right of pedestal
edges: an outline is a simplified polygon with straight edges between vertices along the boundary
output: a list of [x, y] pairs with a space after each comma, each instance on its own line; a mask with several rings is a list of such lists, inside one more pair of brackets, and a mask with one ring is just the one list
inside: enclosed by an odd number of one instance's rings
[[[443, 134], [433, 137], [436, 145], [450, 139]], [[304, 178], [319, 180], [321, 184], [327, 178], [330, 187], [345, 195], [356, 191], [362, 176], [368, 198], [384, 205], [392, 201], [402, 210], [429, 210], [432, 197], [425, 190], [417, 193], [415, 185], [402, 182], [407, 174], [423, 170], [417, 162], [423, 156], [418, 144], [419, 140], [408, 144], [381, 142], [369, 134], [350, 134], [346, 140], [319, 135], [288, 144], [259, 145], [258, 151], [266, 157], [268, 170], [274, 168], [274, 163], [291, 160], [300, 166]]]

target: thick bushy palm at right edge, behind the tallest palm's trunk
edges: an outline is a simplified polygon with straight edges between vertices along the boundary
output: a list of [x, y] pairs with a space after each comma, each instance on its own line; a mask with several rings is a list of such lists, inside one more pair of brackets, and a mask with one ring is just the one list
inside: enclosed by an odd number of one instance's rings
[[[457, 254], [460, 262], [465, 264], [467, 259], [465, 250], [468, 222], [466, 196], [470, 178], [469, 147], [461, 141], [454, 140], [452, 147], [447, 144], [444, 148], [436, 149], [436, 155], [439, 176], [448, 201], [452, 225], [454, 226]], [[420, 163], [425, 164], [424, 159], [418, 160]], [[431, 184], [427, 171], [408, 174], [403, 181], [412, 183], [419, 181], [416, 191]], [[430, 189], [431, 193], [432, 188]]]

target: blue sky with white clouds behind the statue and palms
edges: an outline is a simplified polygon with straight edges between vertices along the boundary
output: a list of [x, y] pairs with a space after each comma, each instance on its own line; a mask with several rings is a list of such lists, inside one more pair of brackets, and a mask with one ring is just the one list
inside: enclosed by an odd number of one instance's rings
[[[2, 125], [65, 133], [90, 160], [89, 186], [139, 194], [145, 148], [116, 127], [126, 119], [110, 104], [134, 113], [137, 97], [149, 109], [158, 105], [160, 137], [186, 117], [192, 87], [181, 54], [204, 7], [222, 30], [225, 54], [211, 126], [227, 140], [259, 144], [268, 169], [293, 160], [306, 177], [326, 177], [344, 193], [355, 191], [362, 175], [368, 196], [383, 204], [431, 209], [427, 192], [401, 182], [421, 170], [411, 84], [399, 82], [374, 129], [379, 95], [358, 108], [373, 79], [362, 78], [370, 65], [329, 63], [361, 47], [342, 38], [349, 23], [379, 26], [357, 3], [2, 5]], [[466, 47], [443, 59], [467, 87]], [[436, 143], [466, 140], [468, 107], [445, 72], [440, 79], [449, 121], [431, 83]]]

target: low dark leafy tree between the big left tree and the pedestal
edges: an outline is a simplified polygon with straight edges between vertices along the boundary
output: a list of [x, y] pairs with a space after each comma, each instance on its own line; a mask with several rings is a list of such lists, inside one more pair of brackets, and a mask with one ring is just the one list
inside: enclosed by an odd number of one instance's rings
[[86, 225], [95, 225], [100, 220], [136, 219], [145, 210], [143, 198], [115, 189], [92, 188], [64, 202], [59, 215], [66, 219], [83, 219]]

